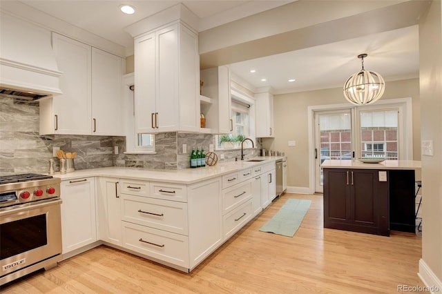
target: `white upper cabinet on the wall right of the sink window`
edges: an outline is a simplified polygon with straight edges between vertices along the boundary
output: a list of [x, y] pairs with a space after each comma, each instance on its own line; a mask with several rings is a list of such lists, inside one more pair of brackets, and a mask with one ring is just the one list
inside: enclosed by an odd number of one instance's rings
[[273, 95], [268, 92], [255, 95], [256, 137], [275, 137], [273, 129]]

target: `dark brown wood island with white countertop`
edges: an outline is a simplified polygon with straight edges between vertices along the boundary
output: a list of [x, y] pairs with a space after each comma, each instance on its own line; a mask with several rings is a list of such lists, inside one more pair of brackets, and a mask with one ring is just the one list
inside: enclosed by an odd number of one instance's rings
[[421, 161], [325, 160], [324, 227], [389, 236], [414, 233], [414, 182]]

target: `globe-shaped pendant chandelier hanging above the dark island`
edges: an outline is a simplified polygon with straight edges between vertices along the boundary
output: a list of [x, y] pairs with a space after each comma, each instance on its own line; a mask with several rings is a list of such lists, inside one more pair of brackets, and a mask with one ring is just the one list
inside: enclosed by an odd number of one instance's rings
[[349, 77], [344, 85], [344, 96], [352, 104], [365, 105], [378, 101], [384, 93], [385, 81], [377, 72], [364, 69], [364, 58], [367, 54], [358, 55], [362, 59], [362, 70]]

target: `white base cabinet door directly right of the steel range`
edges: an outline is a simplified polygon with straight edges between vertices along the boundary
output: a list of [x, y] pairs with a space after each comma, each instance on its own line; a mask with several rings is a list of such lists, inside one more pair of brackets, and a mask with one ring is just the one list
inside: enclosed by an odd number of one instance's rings
[[97, 241], [93, 177], [61, 181], [63, 254]]

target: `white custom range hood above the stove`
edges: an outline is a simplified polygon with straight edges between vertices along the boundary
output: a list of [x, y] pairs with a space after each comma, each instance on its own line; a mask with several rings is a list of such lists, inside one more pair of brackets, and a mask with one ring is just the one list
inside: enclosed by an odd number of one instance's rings
[[62, 94], [51, 32], [0, 13], [0, 97], [36, 100]]

